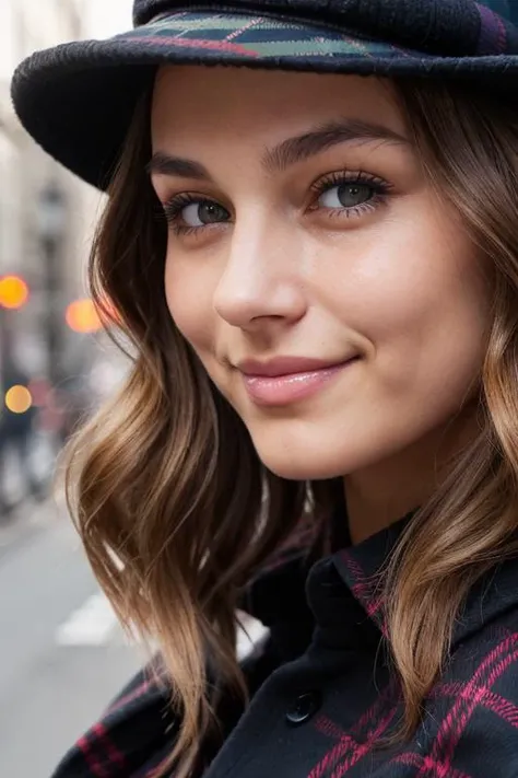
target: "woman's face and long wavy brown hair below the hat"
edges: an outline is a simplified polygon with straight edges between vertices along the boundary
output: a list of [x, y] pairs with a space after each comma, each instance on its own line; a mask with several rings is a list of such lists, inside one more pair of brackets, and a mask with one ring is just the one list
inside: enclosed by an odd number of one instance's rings
[[134, 363], [70, 490], [121, 616], [162, 639], [181, 747], [203, 646], [238, 678], [239, 588], [337, 477], [387, 521], [420, 508], [386, 580], [415, 724], [517, 522], [517, 148], [511, 106], [466, 85], [175, 66], [142, 97], [91, 267]]

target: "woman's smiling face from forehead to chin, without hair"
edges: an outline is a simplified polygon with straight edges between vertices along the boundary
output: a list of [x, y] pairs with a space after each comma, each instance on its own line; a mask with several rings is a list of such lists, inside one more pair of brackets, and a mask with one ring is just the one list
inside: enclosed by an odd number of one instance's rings
[[350, 474], [456, 415], [487, 294], [388, 82], [164, 68], [152, 144], [170, 314], [267, 467]]

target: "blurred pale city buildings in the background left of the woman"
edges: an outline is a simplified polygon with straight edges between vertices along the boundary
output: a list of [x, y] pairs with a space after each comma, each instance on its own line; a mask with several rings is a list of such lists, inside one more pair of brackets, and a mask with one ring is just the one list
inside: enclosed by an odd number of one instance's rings
[[[0, 520], [27, 486], [35, 492], [35, 479], [42, 491], [61, 441], [127, 368], [106, 335], [90, 332], [98, 317], [85, 299], [85, 271], [103, 197], [23, 130], [12, 73], [35, 50], [129, 27], [131, 5], [0, 0]], [[30, 436], [23, 455], [14, 421], [23, 441]]]

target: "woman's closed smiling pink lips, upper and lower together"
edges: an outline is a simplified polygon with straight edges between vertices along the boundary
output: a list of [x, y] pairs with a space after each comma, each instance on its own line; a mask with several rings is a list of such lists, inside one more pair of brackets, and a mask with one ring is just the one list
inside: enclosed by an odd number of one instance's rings
[[279, 357], [270, 362], [247, 360], [237, 367], [250, 398], [258, 405], [287, 405], [319, 392], [356, 358], [325, 362]]

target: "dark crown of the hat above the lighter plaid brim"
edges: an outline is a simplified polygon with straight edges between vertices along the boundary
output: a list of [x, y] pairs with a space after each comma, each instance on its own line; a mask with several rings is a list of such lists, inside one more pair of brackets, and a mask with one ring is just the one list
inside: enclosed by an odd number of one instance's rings
[[[397, 50], [424, 55], [487, 56], [518, 50], [518, 8], [508, 0], [227, 0], [221, 5], [196, 0], [137, 0], [134, 23], [140, 28], [161, 15], [220, 11], [249, 20], [270, 16], [287, 28], [294, 25], [296, 34], [307, 26], [309, 35], [314, 28], [317, 37], [316, 28], [323, 25], [326, 37], [332, 36], [334, 28], [346, 36], [390, 42]], [[296, 54], [290, 50], [290, 56]]]

